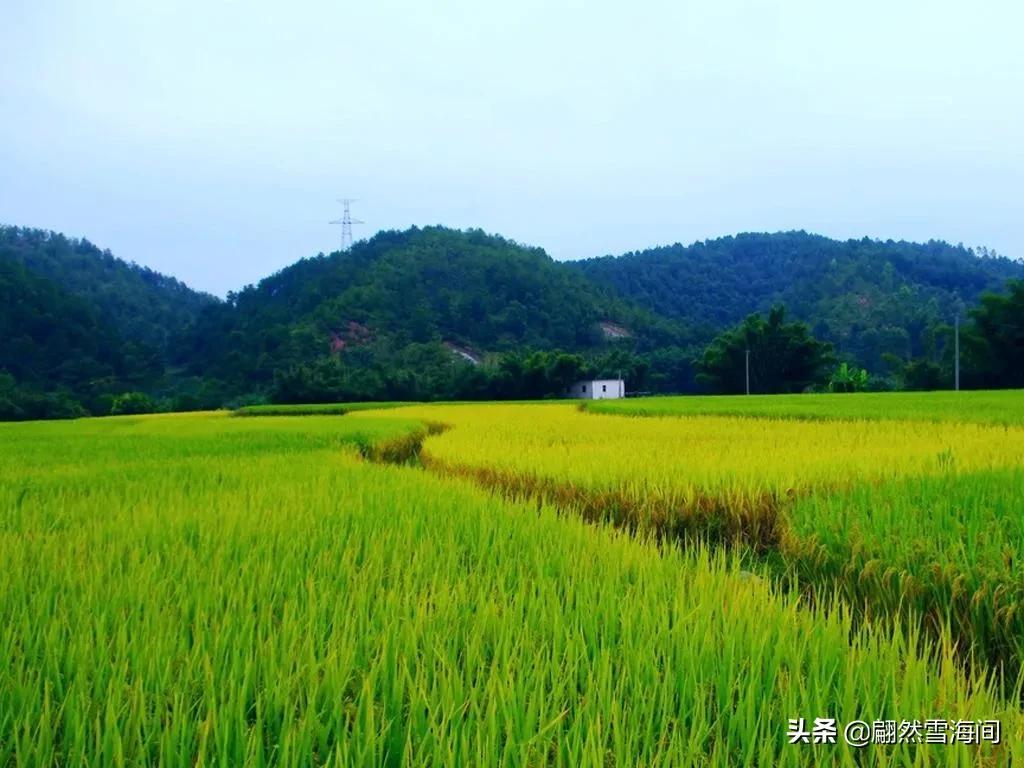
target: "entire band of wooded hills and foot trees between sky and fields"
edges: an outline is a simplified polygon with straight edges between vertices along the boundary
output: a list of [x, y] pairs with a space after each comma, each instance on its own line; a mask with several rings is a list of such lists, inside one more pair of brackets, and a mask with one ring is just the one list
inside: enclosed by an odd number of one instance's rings
[[[620, 376], [632, 392], [738, 393], [748, 359], [752, 392], [951, 388], [950, 319], [959, 297], [979, 290], [963, 315], [962, 385], [1024, 387], [1024, 284], [1000, 280], [1020, 266], [1001, 257], [944, 244], [854, 248], [803, 233], [683, 250], [694, 249], [711, 254], [697, 260], [703, 288], [683, 292], [698, 309], [718, 302], [733, 316], [754, 300], [735, 298], [736, 274], [711, 269], [712, 256], [740, 275], [760, 258], [831, 287], [797, 296], [797, 309], [777, 301], [705, 327], [689, 319], [692, 308], [660, 316], [647, 299], [540, 249], [479, 230], [414, 227], [303, 259], [221, 301], [86, 241], [0, 227], [0, 419], [534, 399], [578, 379]], [[669, 249], [602, 268], [636, 279], [632, 293], [643, 294], [658, 276], [674, 285], [677, 257]], [[755, 293], [779, 280], [765, 276]], [[1001, 290], [983, 290], [993, 285]], [[658, 301], [671, 294], [650, 290]]]

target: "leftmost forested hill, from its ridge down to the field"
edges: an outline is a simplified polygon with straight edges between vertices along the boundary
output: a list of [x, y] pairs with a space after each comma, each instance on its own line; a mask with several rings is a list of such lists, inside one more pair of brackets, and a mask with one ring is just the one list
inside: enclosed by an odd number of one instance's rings
[[0, 226], [0, 419], [105, 413], [175, 387], [167, 351], [216, 299], [85, 240]]

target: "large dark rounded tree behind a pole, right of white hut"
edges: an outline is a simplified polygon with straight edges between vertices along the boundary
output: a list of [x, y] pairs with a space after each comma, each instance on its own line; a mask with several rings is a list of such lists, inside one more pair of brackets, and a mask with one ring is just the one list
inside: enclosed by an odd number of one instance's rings
[[785, 307], [774, 306], [765, 318], [752, 314], [720, 334], [700, 358], [697, 380], [713, 392], [745, 390], [750, 353], [751, 392], [801, 392], [820, 382], [831, 359], [831, 346], [814, 339], [799, 322], [785, 322]]

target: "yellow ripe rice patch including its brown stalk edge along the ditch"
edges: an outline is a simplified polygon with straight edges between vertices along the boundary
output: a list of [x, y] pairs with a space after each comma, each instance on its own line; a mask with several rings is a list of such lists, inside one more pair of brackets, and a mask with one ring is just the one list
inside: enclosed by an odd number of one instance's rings
[[1024, 428], [979, 424], [631, 419], [568, 404], [426, 406], [389, 413], [452, 427], [424, 446], [424, 460], [436, 469], [630, 527], [760, 549], [778, 545], [777, 510], [792, 496], [988, 470], [1024, 457]]

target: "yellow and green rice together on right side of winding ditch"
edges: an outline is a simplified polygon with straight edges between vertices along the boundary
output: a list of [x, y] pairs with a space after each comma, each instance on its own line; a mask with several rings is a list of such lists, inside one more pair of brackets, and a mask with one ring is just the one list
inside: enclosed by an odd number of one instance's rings
[[1022, 666], [1022, 427], [634, 419], [569, 404], [394, 413], [452, 425], [423, 449], [437, 470], [631, 529], [781, 554], [787, 573], [842, 590], [868, 617], [951, 632], [1010, 687]]

